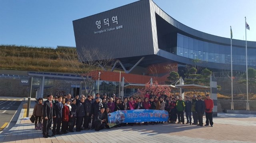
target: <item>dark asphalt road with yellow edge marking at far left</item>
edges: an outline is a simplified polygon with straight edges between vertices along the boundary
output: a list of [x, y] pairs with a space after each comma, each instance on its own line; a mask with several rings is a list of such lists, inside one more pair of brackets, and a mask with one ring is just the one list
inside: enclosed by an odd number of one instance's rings
[[10, 123], [21, 101], [0, 100], [0, 131]]

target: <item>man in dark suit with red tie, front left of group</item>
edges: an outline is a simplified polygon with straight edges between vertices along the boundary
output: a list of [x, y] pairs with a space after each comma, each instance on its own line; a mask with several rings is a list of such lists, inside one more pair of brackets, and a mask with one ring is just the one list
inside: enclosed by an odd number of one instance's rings
[[53, 117], [52, 94], [48, 95], [47, 98], [48, 100], [44, 102], [44, 106], [43, 106], [43, 137], [44, 138], [50, 137], [48, 133], [52, 125], [52, 117]]

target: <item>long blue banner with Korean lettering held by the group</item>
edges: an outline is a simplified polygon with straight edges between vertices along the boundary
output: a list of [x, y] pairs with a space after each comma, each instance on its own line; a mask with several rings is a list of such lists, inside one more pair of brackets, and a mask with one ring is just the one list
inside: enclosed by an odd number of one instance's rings
[[140, 123], [145, 121], [167, 121], [168, 112], [165, 110], [119, 110], [108, 114], [110, 127], [120, 123]]

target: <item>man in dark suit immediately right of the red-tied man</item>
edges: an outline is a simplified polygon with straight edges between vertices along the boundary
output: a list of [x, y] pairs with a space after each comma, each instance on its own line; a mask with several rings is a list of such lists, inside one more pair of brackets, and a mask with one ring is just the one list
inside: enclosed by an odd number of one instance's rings
[[[62, 96], [58, 96], [58, 101], [53, 104], [53, 129], [52, 136], [61, 135], [60, 125], [62, 121], [62, 108], [63, 104], [61, 103]], [[56, 128], [57, 127], [57, 128]]]

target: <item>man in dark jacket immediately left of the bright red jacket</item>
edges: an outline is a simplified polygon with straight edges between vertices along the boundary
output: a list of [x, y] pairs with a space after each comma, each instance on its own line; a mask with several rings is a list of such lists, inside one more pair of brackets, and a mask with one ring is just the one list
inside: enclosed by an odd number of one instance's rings
[[196, 113], [197, 113], [198, 122], [199, 122], [198, 125], [200, 125], [202, 127], [205, 104], [204, 104], [204, 101], [202, 100], [201, 95], [198, 95], [197, 99], [198, 99], [198, 101], [196, 102]]

